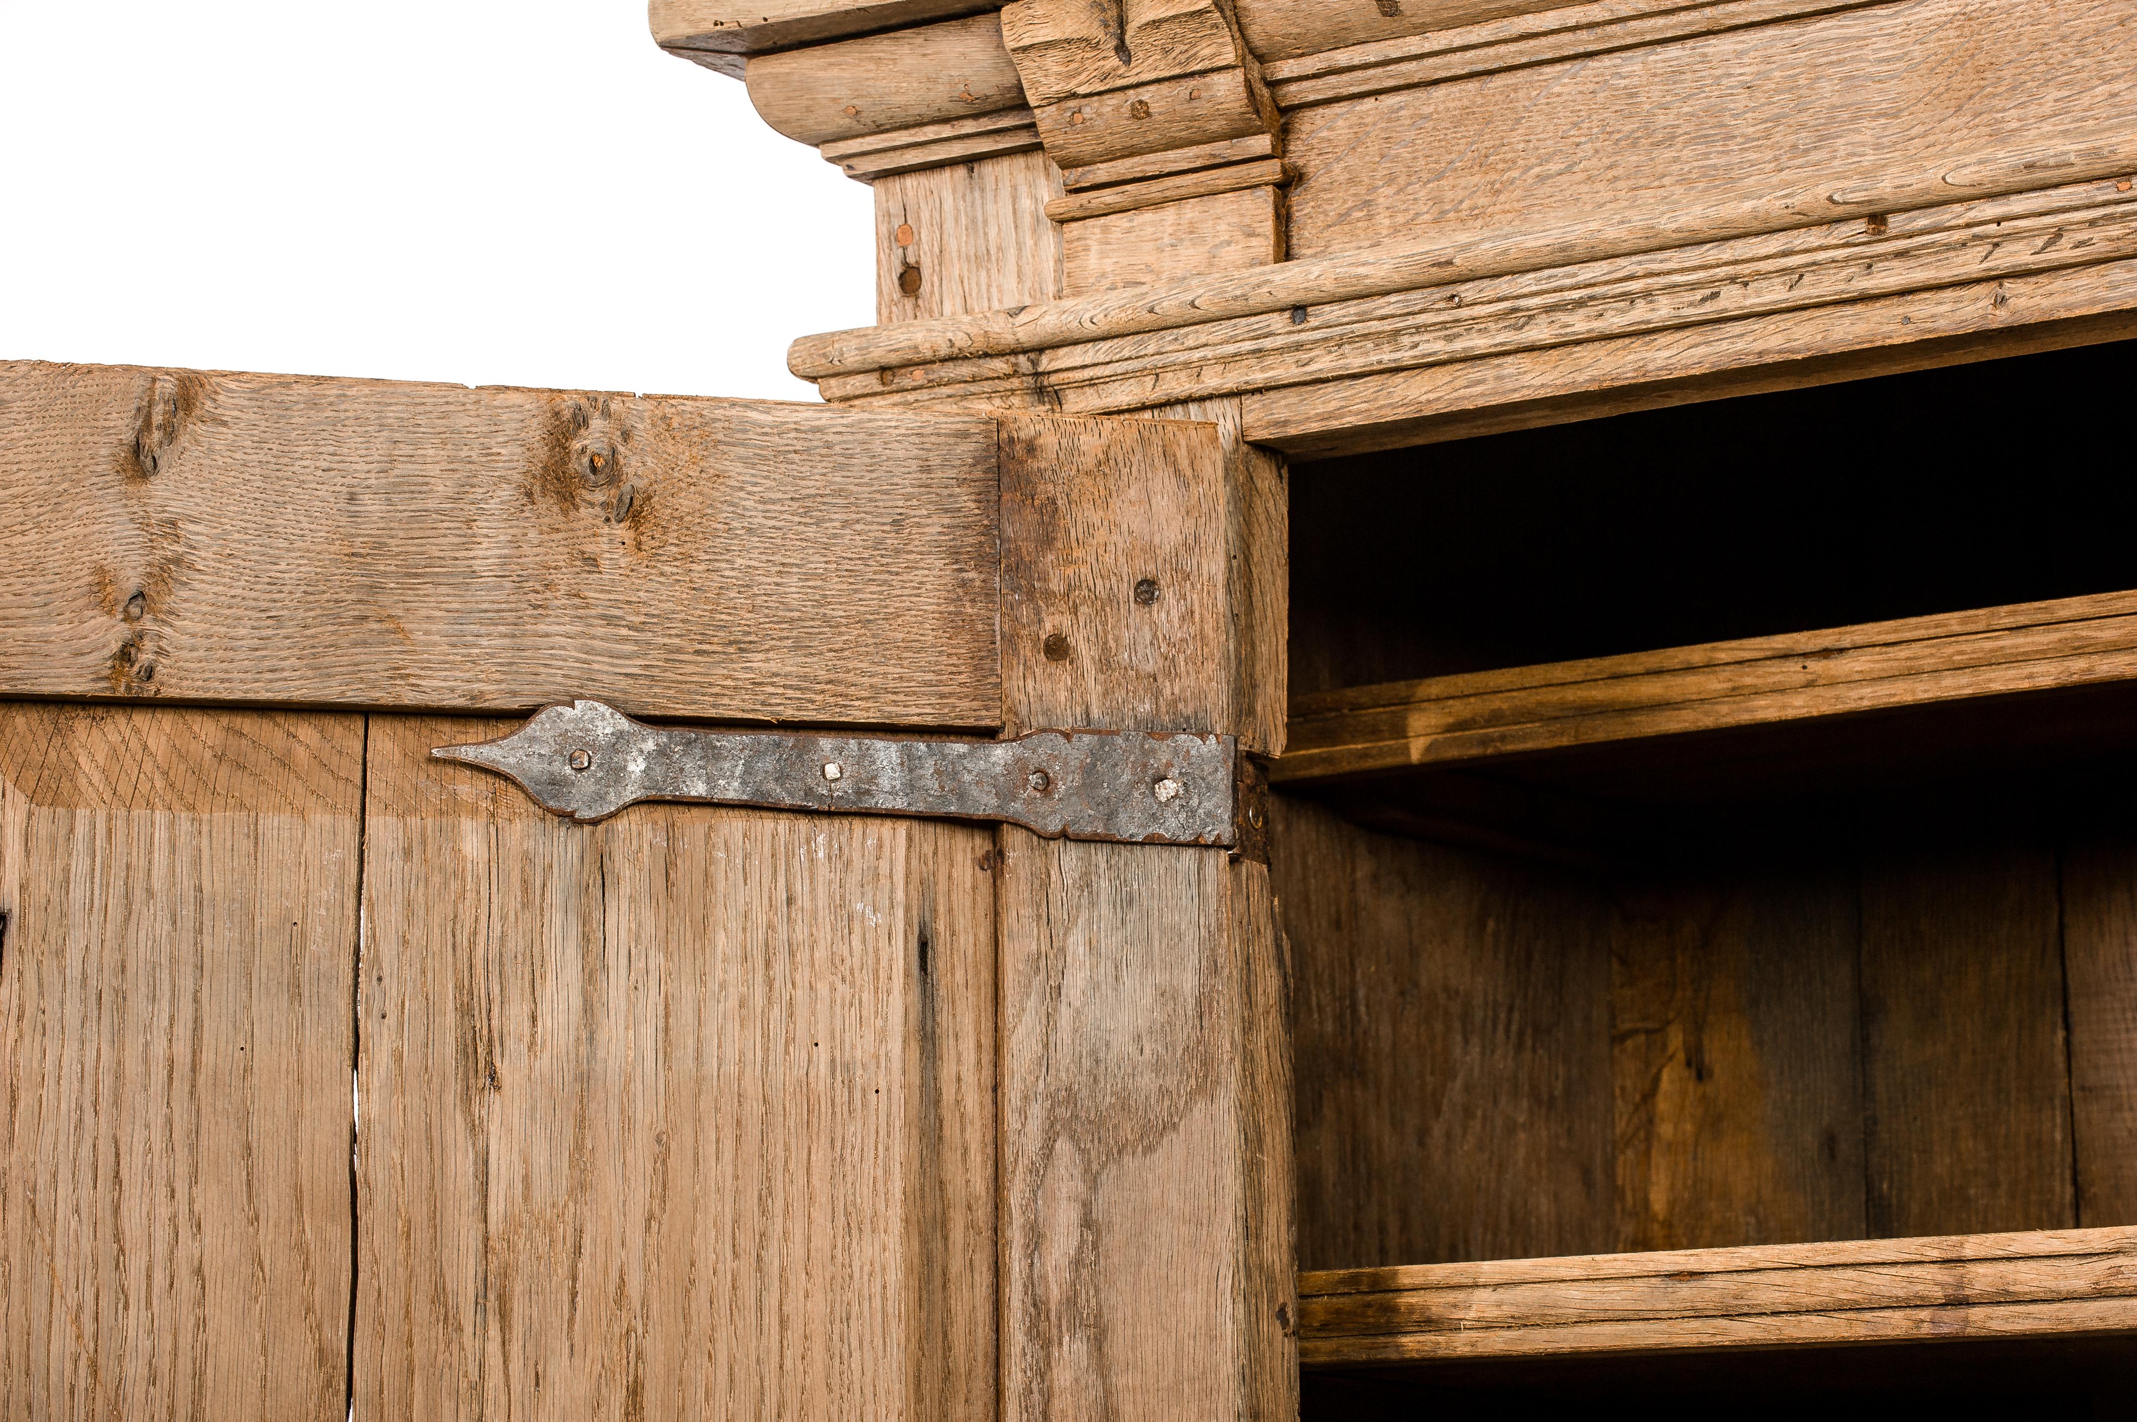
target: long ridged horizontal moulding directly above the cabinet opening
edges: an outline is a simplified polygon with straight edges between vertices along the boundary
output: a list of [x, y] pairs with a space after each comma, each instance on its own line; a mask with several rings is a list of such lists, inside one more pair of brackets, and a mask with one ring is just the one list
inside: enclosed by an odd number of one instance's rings
[[[2137, 167], [2137, 141], [2111, 156]], [[1887, 190], [1891, 203], [1868, 210], [1876, 220], [1686, 231], [1682, 246], [1562, 227], [1284, 261], [804, 338], [789, 361], [838, 402], [983, 408], [1036, 391], [1064, 413], [1098, 413], [1244, 391], [1257, 440], [1355, 430], [1385, 445], [1404, 421], [1492, 404], [2128, 310], [2128, 182], [1932, 205]]]

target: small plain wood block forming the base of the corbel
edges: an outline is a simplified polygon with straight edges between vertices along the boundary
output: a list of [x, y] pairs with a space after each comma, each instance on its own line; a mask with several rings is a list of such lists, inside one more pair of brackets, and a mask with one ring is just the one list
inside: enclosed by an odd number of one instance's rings
[[1068, 222], [1062, 229], [1062, 289], [1154, 287], [1186, 272], [1233, 272], [1284, 259], [1284, 199], [1246, 186], [1156, 207]]

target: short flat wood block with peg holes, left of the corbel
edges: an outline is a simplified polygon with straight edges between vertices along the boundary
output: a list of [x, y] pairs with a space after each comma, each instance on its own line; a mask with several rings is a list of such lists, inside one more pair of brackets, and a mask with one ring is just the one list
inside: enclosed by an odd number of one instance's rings
[[876, 319], [885, 325], [1047, 302], [1062, 284], [1047, 199], [1060, 171], [1041, 152], [932, 167], [876, 182]]

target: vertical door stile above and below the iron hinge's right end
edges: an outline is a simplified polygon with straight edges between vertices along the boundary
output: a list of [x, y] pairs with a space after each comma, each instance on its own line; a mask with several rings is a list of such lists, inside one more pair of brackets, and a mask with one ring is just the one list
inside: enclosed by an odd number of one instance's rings
[[[1210, 428], [1004, 419], [1011, 727], [1252, 740], [1267, 701], [1242, 686], [1282, 682], [1235, 659], [1252, 569], [1280, 552], [1244, 543], [1282, 524], [1233, 517], [1242, 473]], [[1267, 868], [1002, 830], [996, 877], [1004, 1418], [1295, 1416]]]

